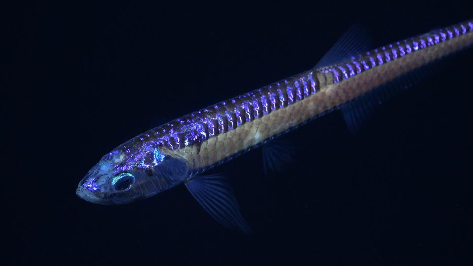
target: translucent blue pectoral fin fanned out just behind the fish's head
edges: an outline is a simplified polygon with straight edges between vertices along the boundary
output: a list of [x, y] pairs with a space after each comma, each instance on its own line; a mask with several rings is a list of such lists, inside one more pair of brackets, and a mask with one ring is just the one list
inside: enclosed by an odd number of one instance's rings
[[220, 175], [196, 176], [185, 184], [192, 196], [221, 225], [251, 233], [232, 189], [224, 179]]

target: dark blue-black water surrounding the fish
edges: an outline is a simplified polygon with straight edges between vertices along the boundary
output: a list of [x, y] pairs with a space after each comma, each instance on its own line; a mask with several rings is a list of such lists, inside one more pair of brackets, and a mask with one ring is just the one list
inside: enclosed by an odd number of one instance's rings
[[288, 133], [283, 172], [263, 174], [261, 149], [213, 169], [231, 178], [251, 235], [219, 226], [184, 186], [120, 206], [75, 195], [120, 143], [310, 69], [354, 23], [379, 46], [471, 19], [471, 6], [9, 3], [7, 265], [471, 263], [472, 50], [357, 134], [338, 112]]

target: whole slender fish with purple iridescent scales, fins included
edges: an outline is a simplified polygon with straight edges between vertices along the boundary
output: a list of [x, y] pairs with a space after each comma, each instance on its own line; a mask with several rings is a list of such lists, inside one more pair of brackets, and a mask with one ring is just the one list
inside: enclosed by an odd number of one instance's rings
[[[184, 184], [217, 222], [251, 232], [226, 178], [205, 171], [334, 110], [356, 132], [373, 106], [408, 87], [403, 80], [410, 73], [470, 47], [473, 20], [371, 50], [366, 39], [353, 27], [312, 69], [130, 139], [88, 171], [76, 194], [92, 203], [126, 204]], [[269, 157], [271, 165], [284, 164]]]

